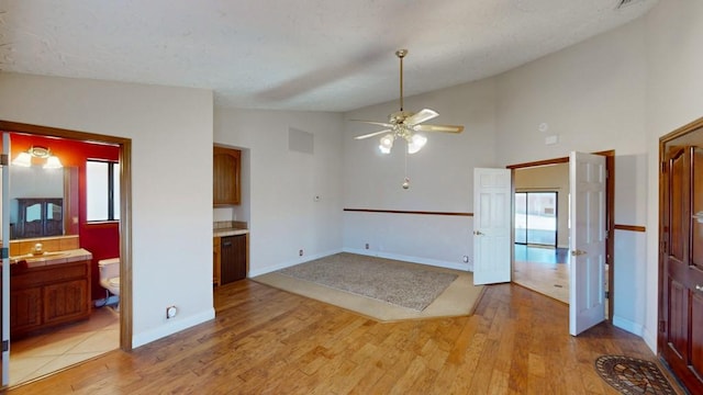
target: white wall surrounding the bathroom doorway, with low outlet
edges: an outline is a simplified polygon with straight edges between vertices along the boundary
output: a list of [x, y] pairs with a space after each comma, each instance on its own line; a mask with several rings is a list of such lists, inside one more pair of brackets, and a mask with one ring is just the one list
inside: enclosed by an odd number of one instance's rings
[[133, 347], [214, 317], [212, 92], [16, 74], [0, 87], [1, 120], [132, 139]]

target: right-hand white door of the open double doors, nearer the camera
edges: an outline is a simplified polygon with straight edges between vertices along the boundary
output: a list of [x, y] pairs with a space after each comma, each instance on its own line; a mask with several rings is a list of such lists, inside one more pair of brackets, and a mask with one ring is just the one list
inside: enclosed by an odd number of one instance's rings
[[569, 334], [605, 319], [605, 157], [571, 153]]

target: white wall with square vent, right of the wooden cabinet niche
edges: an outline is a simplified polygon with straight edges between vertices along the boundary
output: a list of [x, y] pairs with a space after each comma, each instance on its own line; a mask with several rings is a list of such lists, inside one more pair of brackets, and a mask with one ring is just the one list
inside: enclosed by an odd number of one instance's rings
[[[314, 154], [289, 150], [290, 127], [314, 136]], [[250, 276], [342, 250], [341, 127], [336, 113], [215, 110], [215, 143], [248, 154]]]

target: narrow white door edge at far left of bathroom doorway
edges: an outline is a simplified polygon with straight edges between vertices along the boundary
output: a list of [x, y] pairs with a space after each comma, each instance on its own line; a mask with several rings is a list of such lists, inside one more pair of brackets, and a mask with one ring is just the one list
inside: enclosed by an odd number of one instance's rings
[[[10, 134], [2, 132], [2, 155], [10, 158]], [[2, 246], [2, 382], [0, 387], [10, 385], [10, 167], [9, 163], [0, 166], [2, 171], [2, 201], [0, 202], [0, 217], [2, 217], [2, 228], [0, 239], [4, 240]]]

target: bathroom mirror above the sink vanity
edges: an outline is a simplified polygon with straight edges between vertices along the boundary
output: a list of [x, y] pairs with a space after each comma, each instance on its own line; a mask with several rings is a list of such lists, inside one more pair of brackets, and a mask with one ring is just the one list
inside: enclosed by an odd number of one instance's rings
[[78, 168], [10, 167], [10, 238], [78, 234]]

